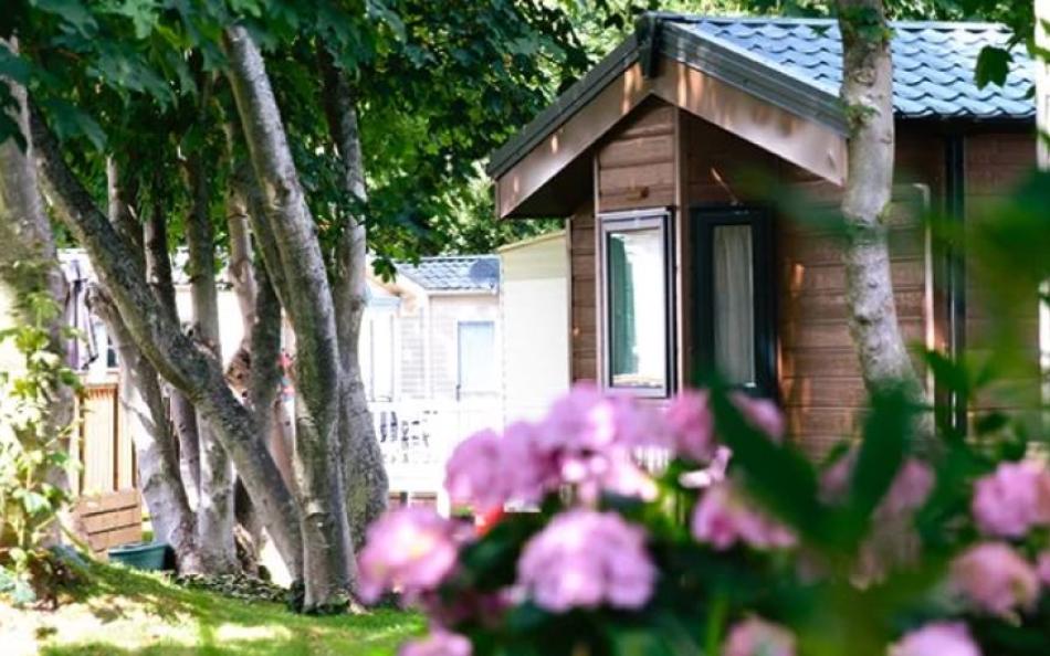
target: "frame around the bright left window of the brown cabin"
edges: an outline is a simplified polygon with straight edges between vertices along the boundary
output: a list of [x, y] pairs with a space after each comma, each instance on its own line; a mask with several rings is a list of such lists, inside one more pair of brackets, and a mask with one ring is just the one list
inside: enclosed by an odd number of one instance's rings
[[[600, 371], [599, 380], [605, 390], [631, 394], [645, 399], [668, 399], [675, 389], [675, 353], [674, 317], [674, 244], [672, 230], [673, 214], [670, 208], [649, 208], [622, 212], [601, 212], [596, 216], [598, 234], [598, 254], [601, 286], [598, 290], [599, 326], [600, 326]], [[611, 303], [612, 269], [609, 267], [609, 235], [623, 232], [641, 232], [653, 228], [660, 231], [660, 241], [663, 245], [663, 318], [664, 318], [664, 369], [663, 385], [659, 388], [636, 388], [612, 384], [612, 340], [609, 311]]]

